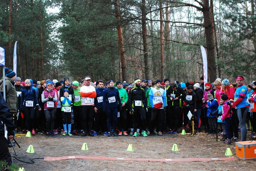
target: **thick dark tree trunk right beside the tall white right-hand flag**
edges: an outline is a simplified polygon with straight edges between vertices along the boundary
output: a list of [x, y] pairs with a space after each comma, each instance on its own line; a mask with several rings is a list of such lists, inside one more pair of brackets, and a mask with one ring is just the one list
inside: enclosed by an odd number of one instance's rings
[[203, 0], [203, 18], [204, 18], [204, 28], [205, 28], [205, 37], [206, 37], [206, 48], [207, 48], [207, 61], [209, 69], [209, 81], [214, 81], [216, 77], [216, 62], [215, 62], [215, 53], [214, 53], [214, 33], [212, 31], [213, 23], [210, 18], [210, 7], [209, 0]]

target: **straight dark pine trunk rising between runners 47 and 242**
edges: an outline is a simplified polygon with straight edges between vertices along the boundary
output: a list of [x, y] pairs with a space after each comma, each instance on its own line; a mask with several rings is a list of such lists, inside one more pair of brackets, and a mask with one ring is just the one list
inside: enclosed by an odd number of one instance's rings
[[146, 23], [146, 2], [142, 0], [141, 13], [142, 13], [142, 39], [143, 39], [143, 56], [145, 64], [145, 79], [149, 79], [149, 64], [148, 64], [148, 43], [147, 43], [147, 23]]

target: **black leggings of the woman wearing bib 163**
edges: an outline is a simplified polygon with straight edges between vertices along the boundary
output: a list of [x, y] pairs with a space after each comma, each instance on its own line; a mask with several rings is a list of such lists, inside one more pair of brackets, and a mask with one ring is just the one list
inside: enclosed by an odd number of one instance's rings
[[35, 128], [35, 106], [26, 107], [24, 106], [24, 113], [26, 117], [26, 128], [31, 131], [32, 128]]

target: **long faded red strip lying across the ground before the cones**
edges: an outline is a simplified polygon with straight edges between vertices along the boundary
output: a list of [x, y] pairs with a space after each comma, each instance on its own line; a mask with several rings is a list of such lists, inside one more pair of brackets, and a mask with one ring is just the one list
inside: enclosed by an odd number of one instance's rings
[[175, 159], [153, 159], [153, 158], [111, 158], [111, 157], [93, 157], [93, 156], [64, 156], [64, 157], [44, 157], [44, 161], [68, 160], [68, 159], [86, 159], [86, 160], [113, 160], [113, 161], [155, 161], [155, 162], [191, 162], [191, 161], [232, 161], [233, 157], [226, 158], [175, 158]]

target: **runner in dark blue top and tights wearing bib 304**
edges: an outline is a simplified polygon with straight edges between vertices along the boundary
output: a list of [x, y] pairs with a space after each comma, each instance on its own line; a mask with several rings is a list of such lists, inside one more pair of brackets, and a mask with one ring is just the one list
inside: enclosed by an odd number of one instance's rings
[[[120, 100], [119, 92], [114, 87], [114, 81], [110, 80], [108, 81], [109, 88], [105, 89], [103, 94], [103, 102], [102, 102], [102, 109], [107, 114], [107, 129], [108, 129], [108, 137], [111, 136], [118, 136], [118, 134], [115, 132], [115, 129], [117, 127], [117, 106], [119, 105], [120, 108], [122, 107], [122, 103]], [[118, 103], [117, 103], [118, 102]], [[111, 123], [113, 132], [111, 132]]]

